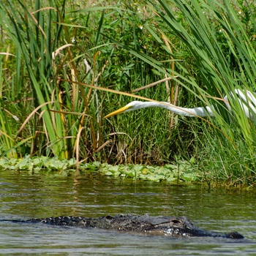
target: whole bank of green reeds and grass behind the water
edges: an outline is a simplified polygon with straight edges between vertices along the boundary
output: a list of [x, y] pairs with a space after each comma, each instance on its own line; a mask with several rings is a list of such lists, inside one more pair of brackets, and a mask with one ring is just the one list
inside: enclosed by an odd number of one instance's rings
[[[240, 0], [1, 1], [1, 157], [75, 159], [77, 168], [185, 162], [200, 181], [254, 186], [255, 124], [230, 96], [227, 114], [223, 96], [256, 91], [255, 15]], [[124, 92], [214, 104], [216, 117], [145, 109], [103, 119], [132, 100]]]

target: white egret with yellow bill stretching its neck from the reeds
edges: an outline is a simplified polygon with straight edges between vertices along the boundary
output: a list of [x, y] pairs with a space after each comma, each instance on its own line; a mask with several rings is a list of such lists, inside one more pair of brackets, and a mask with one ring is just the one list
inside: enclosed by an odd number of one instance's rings
[[[234, 90], [237, 94], [237, 99], [239, 102], [239, 105], [241, 105], [242, 110], [244, 111], [247, 118], [255, 119], [256, 117], [256, 94], [252, 94], [250, 91], [241, 91], [239, 89]], [[233, 94], [230, 94], [234, 97]], [[225, 105], [227, 106], [228, 110], [230, 109], [230, 104], [227, 100], [227, 96], [224, 97]], [[151, 108], [151, 107], [159, 107], [159, 108], [165, 108], [167, 110], [172, 111], [173, 113], [176, 113], [180, 116], [214, 116], [214, 106], [206, 108], [199, 107], [199, 108], [181, 108], [176, 105], [172, 105], [168, 102], [140, 102], [140, 101], [133, 101], [129, 102], [126, 106], [123, 108], [120, 108], [107, 116], [105, 118], [109, 118], [110, 116], [115, 116], [120, 113], [127, 113], [129, 111], [138, 110], [140, 108]]]

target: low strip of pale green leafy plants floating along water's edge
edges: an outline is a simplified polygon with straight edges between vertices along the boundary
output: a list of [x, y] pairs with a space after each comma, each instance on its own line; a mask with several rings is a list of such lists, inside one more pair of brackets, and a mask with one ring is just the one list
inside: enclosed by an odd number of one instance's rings
[[[41, 171], [75, 171], [75, 159], [59, 160], [56, 157], [25, 157], [23, 159], [0, 159], [0, 167], [4, 170], [29, 170], [31, 173]], [[197, 165], [180, 161], [178, 165], [143, 166], [143, 165], [108, 165], [100, 162], [80, 164], [79, 171], [100, 173], [105, 176], [143, 179], [145, 181], [167, 181], [171, 184], [189, 184], [202, 181], [202, 173]]]

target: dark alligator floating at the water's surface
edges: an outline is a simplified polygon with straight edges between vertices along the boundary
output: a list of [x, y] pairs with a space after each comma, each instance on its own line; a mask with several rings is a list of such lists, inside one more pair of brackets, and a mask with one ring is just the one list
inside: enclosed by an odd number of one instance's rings
[[[20, 222], [12, 220], [12, 222]], [[244, 238], [238, 232], [227, 234], [202, 230], [195, 225], [187, 217], [150, 217], [147, 214], [142, 216], [134, 216], [130, 214], [116, 215], [114, 217], [50, 217], [41, 219], [28, 219], [26, 223], [45, 223], [48, 225], [75, 226], [75, 227], [97, 227], [106, 230], [128, 231], [132, 233], [145, 233], [148, 235], [162, 236], [211, 236], [220, 238]]]

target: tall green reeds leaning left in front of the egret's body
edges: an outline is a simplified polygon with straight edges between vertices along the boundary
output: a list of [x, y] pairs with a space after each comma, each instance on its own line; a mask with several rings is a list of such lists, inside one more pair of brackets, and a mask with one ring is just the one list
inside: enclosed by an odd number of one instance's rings
[[[148, 30], [158, 41], [164, 35], [170, 44], [173, 44], [173, 35], [178, 37], [193, 60], [189, 68], [195, 69], [199, 77], [187, 70], [188, 63], [182, 52], [170, 52], [163, 46], [173, 59], [181, 58], [176, 64], [178, 79], [173, 79], [199, 97], [203, 104], [214, 105], [215, 118], [211, 123], [218, 129], [207, 125], [203, 129], [206, 143], [202, 143], [206, 156], [214, 155], [214, 159], [210, 162], [203, 160], [204, 164], [217, 165], [218, 173], [224, 174], [225, 178], [242, 177], [244, 181], [249, 176], [250, 182], [254, 181], [255, 126], [244, 115], [234, 90], [256, 89], [255, 6], [243, 1], [238, 7], [230, 1], [159, 1], [160, 5], [147, 2], [161, 20], [161, 25], [148, 26]], [[176, 12], [173, 12], [174, 8]], [[183, 17], [182, 22], [178, 16]], [[166, 32], [167, 28], [170, 33]], [[168, 76], [173, 75], [172, 69], [147, 56], [142, 58]], [[227, 95], [232, 109], [228, 115], [223, 95]]]

